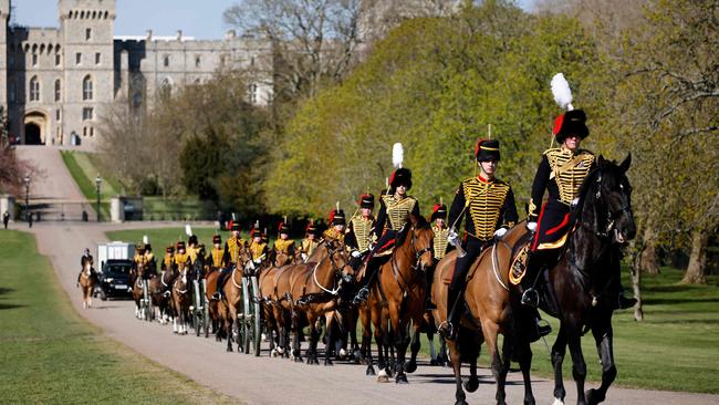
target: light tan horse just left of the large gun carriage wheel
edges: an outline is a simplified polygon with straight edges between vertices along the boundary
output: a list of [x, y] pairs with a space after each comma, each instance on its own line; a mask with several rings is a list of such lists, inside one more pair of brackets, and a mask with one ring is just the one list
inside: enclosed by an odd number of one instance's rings
[[232, 267], [232, 273], [227, 278], [222, 287], [223, 294], [217, 305], [218, 313], [222, 320], [223, 332], [227, 334], [228, 352], [232, 351], [232, 340], [237, 340], [237, 351], [241, 351], [240, 345], [242, 342], [239, 341], [240, 323], [238, 322], [238, 313], [242, 304], [242, 273], [250, 266], [252, 266], [252, 253], [248, 246], [243, 246], [238, 252], [238, 259]]

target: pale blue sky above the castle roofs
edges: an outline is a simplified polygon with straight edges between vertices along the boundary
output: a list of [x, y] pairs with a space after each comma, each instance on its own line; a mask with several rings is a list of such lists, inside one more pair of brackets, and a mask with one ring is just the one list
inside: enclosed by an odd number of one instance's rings
[[[59, 27], [56, 0], [11, 0], [12, 21], [28, 27]], [[229, 29], [222, 12], [237, 0], [116, 0], [115, 35], [195, 37], [198, 40], [221, 39]], [[533, 0], [520, 0], [522, 7]]]

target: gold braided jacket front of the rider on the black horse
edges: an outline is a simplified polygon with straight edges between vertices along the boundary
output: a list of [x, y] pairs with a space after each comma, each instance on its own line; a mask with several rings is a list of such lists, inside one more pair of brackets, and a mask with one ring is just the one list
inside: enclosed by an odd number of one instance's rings
[[556, 180], [560, 201], [569, 206], [579, 196], [580, 187], [594, 163], [594, 155], [586, 150], [580, 150], [574, 155], [571, 150], [563, 148], [552, 148], [544, 154], [552, 169], [550, 180]]

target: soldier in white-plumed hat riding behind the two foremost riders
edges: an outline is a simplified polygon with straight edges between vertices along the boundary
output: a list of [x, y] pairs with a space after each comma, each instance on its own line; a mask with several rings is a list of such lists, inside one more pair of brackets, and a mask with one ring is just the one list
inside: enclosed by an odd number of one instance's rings
[[[404, 150], [402, 144], [395, 144], [392, 150], [392, 160], [396, 169], [389, 177], [389, 189], [387, 194], [379, 198], [379, 214], [377, 222], [372, 232], [372, 240], [376, 240], [369, 247], [367, 255], [367, 266], [362, 280], [362, 288], [354, 299], [355, 303], [364, 302], [369, 295], [369, 287], [375, 279], [378, 269], [377, 260], [373, 257], [394, 247], [397, 235], [407, 225], [409, 216], [419, 217], [419, 201], [415, 197], [408, 196], [407, 191], [411, 188], [411, 170], [403, 167]], [[383, 232], [384, 230], [384, 232]]]

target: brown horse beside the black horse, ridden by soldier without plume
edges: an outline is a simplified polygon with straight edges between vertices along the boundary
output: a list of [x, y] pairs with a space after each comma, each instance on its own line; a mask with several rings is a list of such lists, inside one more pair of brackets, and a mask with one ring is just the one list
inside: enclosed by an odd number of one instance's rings
[[[524, 376], [524, 404], [534, 404], [532, 386], [529, 377], [531, 352], [529, 342], [517, 336], [518, 318], [514, 315], [510, 297], [509, 268], [515, 246], [528, 241], [527, 227], [522, 222], [512, 228], [497, 243], [487, 247], [472, 263], [465, 289], [465, 302], [469, 314], [460, 321], [458, 340], [446, 340], [450, 350], [450, 363], [455, 372], [457, 391], [456, 404], [467, 404], [461, 383], [461, 361], [469, 362], [470, 377], [465, 383], [468, 392], [475, 392], [479, 386], [477, 377], [477, 357], [482, 342], [492, 362], [492, 374], [497, 381], [497, 403], [504, 404], [504, 385], [510, 366], [510, 355], [515, 354]], [[437, 326], [447, 321], [447, 284], [444, 280], [451, 278], [458, 252], [451, 251], [437, 264], [433, 281], [433, 318]], [[502, 356], [498, 350], [498, 336], [504, 336]]]

